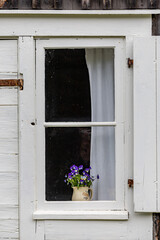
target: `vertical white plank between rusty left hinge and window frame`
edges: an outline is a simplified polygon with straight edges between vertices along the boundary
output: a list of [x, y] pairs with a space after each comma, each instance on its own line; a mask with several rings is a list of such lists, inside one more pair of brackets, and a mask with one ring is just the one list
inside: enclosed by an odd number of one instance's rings
[[[35, 240], [35, 41], [20, 37], [19, 73], [23, 73], [25, 88], [19, 92], [19, 194], [20, 239]], [[29, 70], [28, 70], [29, 69]]]

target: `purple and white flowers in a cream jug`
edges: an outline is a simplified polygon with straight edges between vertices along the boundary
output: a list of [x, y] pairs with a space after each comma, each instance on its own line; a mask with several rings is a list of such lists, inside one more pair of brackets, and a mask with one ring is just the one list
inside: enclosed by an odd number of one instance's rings
[[[83, 165], [79, 167], [73, 165], [70, 167], [71, 172], [65, 175], [65, 180], [67, 184], [71, 184], [73, 188], [72, 201], [89, 201], [92, 199], [93, 191], [90, 188], [94, 176], [90, 175], [91, 167], [83, 169]], [[99, 179], [99, 175], [97, 175]]]

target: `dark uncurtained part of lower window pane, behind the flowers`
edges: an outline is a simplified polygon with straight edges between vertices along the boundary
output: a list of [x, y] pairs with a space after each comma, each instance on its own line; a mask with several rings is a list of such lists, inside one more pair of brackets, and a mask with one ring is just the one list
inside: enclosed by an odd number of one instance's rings
[[91, 128], [46, 129], [46, 200], [71, 200], [64, 176], [73, 164], [90, 166]]

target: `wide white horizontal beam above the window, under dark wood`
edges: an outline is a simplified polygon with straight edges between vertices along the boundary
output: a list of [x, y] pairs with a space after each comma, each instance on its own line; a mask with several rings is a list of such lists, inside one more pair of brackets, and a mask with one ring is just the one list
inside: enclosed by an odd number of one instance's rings
[[[1, 18], [1, 36], [126, 36], [151, 35], [151, 15], [134, 16], [9, 16]], [[24, 27], [25, 26], [25, 27]]]

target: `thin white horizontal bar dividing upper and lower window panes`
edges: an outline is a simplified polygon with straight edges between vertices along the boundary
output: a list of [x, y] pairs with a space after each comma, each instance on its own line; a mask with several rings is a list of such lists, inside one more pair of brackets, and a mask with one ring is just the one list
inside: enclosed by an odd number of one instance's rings
[[116, 122], [45, 122], [44, 127], [94, 127], [116, 126]]

